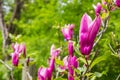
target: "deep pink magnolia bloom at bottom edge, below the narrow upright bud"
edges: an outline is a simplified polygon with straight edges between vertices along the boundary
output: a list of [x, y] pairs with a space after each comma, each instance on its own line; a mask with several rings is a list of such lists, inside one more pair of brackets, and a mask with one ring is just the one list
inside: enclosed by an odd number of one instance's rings
[[74, 80], [74, 68], [78, 67], [76, 56], [70, 56], [68, 59], [68, 80]]

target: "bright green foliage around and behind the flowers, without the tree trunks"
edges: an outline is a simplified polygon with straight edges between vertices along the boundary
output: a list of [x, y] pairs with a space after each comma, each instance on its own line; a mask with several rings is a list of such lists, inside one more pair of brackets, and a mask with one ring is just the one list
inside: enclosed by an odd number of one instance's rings
[[[12, 2], [11, 2], [12, 1]], [[71, 1], [71, 2], [70, 2]], [[36, 70], [43, 65], [47, 66], [47, 59], [50, 56], [50, 47], [52, 44], [66, 51], [66, 43], [61, 33], [61, 27], [64, 24], [75, 24], [75, 41], [78, 42], [79, 24], [81, 16], [86, 12], [94, 17], [92, 5], [100, 0], [25, 0], [21, 17], [19, 20], [14, 20], [15, 33], [9, 34], [12, 42], [24, 42], [27, 47], [27, 56], [34, 59], [31, 64], [36, 64]], [[8, 23], [12, 16], [14, 1], [5, 0], [10, 8], [5, 11], [5, 21]], [[115, 80], [120, 73], [120, 59], [118, 54], [113, 54], [108, 44], [111, 44], [115, 52], [119, 50], [120, 45], [120, 10], [113, 11], [110, 14], [110, 22], [107, 31], [99, 41], [96, 49], [99, 49], [98, 58], [90, 66], [92, 68], [91, 80]], [[102, 17], [104, 17], [104, 14]], [[0, 31], [0, 47], [2, 47], [2, 34]], [[77, 43], [76, 43], [77, 44]], [[75, 45], [77, 46], [77, 45]], [[8, 54], [12, 53], [11, 45], [9, 46]], [[77, 46], [78, 47], [78, 46]], [[79, 48], [75, 49], [75, 55], [79, 57], [81, 54]], [[94, 52], [94, 50], [93, 50]], [[62, 57], [67, 54], [61, 53]], [[119, 53], [120, 54], [120, 53]], [[117, 56], [117, 57], [116, 57]], [[0, 48], [0, 59], [2, 59], [2, 48]], [[85, 59], [78, 58], [80, 67], [86, 63]], [[8, 61], [11, 64], [11, 59]], [[56, 59], [56, 63], [63, 65], [63, 62]], [[20, 65], [21, 66], [21, 65]], [[79, 71], [83, 71], [82, 67]], [[77, 71], [77, 73], [79, 72]], [[94, 73], [95, 72], [95, 73]], [[0, 63], [0, 80], [7, 80], [9, 71]], [[21, 67], [15, 68], [14, 77], [16, 80], [21, 80]], [[36, 75], [37, 77], [37, 75]], [[67, 80], [57, 78], [55, 80]], [[77, 80], [77, 79], [76, 79]]]

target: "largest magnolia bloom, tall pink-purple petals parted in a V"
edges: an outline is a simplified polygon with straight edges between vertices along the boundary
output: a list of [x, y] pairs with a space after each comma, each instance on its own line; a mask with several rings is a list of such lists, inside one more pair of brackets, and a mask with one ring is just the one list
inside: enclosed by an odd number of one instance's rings
[[96, 16], [95, 19], [92, 21], [89, 15], [87, 15], [86, 13], [83, 15], [79, 31], [80, 50], [83, 55], [90, 54], [95, 37], [100, 28], [100, 24], [100, 16]]

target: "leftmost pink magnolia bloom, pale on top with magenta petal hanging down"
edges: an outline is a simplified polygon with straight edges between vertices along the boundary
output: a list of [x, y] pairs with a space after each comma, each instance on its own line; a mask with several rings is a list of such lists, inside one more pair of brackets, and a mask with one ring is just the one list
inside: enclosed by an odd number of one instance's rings
[[12, 44], [14, 52], [12, 53], [12, 64], [17, 66], [19, 63], [19, 57], [23, 53], [23, 56], [26, 57], [26, 47], [24, 44]]

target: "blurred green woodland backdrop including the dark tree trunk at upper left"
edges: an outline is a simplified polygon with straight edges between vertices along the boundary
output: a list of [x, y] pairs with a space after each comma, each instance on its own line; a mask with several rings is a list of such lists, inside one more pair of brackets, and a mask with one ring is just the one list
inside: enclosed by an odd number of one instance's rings
[[[25, 43], [27, 57], [33, 58], [31, 66], [34, 80], [37, 80], [37, 70], [43, 65], [47, 66], [50, 56], [50, 47], [67, 46], [61, 33], [65, 24], [75, 24], [74, 40], [78, 41], [81, 16], [88, 13], [94, 19], [93, 4], [100, 0], [0, 0], [0, 15], [2, 22], [8, 29], [6, 50], [3, 46], [3, 31], [0, 29], [0, 59], [12, 66], [10, 54], [13, 52], [11, 44]], [[1, 12], [2, 11], [2, 12]], [[1, 21], [0, 19], [0, 21]], [[120, 55], [120, 9], [110, 14], [110, 22], [107, 31], [96, 46], [99, 48], [99, 56], [104, 60], [95, 65], [92, 71], [103, 73], [97, 80], [115, 80], [120, 74], [120, 56], [116, 56], [110, 50], [109, 44]], [[4, 50], [4, 51], [3, 51]], [[66, 55], [62, 53], [61, 55]], [[79, 57], [79, 56], [78, 56]], [[21, 80], [22, 65], [14, 69], [15, 80]], [[0, 80], [9, 79], [9, 71], [0, 63]]]

